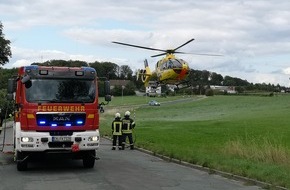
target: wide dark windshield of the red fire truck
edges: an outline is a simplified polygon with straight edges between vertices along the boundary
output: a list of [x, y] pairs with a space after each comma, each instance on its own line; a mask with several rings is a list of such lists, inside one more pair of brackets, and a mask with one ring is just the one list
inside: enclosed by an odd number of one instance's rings
[[96, 98], [94, 80], [31, 79], [25, 91], [28, 102], [92, 103]]

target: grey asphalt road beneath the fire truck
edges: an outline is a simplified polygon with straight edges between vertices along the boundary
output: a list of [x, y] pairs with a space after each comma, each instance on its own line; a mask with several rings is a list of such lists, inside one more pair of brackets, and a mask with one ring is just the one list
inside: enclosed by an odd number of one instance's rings
[[[10, 144], [12, 129], [6, 130]], [[93, 169], [84, 169], [81, 160], [41, 160], [18, 172], [5, 146], [0, 153], [0, 190], [256, 190], [242, 182], [181, 166], [137, 150], [111, 150], [111, 142], [101, 139]], [[0, 143], [3, 133], [0, 135]], [[0, 146], [1, 147], [1, 146]], [[1, 147], [2, 149], [2, 147]]]

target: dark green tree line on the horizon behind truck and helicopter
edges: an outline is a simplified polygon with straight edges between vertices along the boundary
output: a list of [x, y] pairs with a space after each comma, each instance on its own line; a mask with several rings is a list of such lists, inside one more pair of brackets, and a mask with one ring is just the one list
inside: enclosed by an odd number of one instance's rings
[[[135, 90], [141, 90], [144, 91], [144, 85], [139, 80], [136, 80], [136, 73], [137, 71], [133, 72], [133, 70], [128, 65], [117, 65], [116, 63], [112, 62], [92, 62], [87, 63], [85, 61], [74, 61], [74, 60], [50, 60], [43, 63], [32, 63], [32, 65], [41, 65], [41, 66], [66, 66], [66, 67], [92, 67], [96, 69], [97, 76], [99, 77], [100, 81], [103, 79], [108, 80], [128, 80], [130, 83], [128, 84], [128, 87], [131, 91]], [[0, 69], [0, 89], [6, 89], [7, 88], [7, 81], [12, 76], [17, 75], [17, 69]], [[188, 75], [188, 84], [189, 88], [203, 88], [206, 89], [210, 85], [217, 85], [217, 86], [233, 86], [236, 88], [237, 91], [243, 92], [243, 91], [266, 91], [266, 92], [279, 92], [281, 90], [285, 90], [286, 87], [280, 86], [279, 84], [266, 84], [266, 83], [250, 83], [247, 80], [243, 80], [237, 77], [231, 77], [231, 76], [225, 76], [223, 77], [221, 74], [218, 74], [216, 72], [210, 72], [207, 70], [194, 70], [191, 69], [190, 73]], [[115, 87], [120, 88], [120, 87]], [[129, 93], [129, 91], [126, 89], [126, 92]], [[198, 89], [198, 92], [200, 93], [200, 89]], [[116, 94], [120, 94], [119, 91], [115, 91]], [[130, 92], [132, 93], [132, 92]], [[124, 95], [130, 95], [124, 94]], [[198, 94], [199, 94], [198, 93]]]

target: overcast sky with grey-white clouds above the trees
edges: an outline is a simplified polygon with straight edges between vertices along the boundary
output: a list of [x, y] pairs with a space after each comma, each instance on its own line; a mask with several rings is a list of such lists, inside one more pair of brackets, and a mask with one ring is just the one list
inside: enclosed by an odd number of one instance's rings
[[154, 70], [158, 49], [177, 54], [192, 69], [253, 83], [290, 86], [289, 0], [1, 0], [0, 21], [11, 41], [5, 68], [52, 59], [110, 61]]

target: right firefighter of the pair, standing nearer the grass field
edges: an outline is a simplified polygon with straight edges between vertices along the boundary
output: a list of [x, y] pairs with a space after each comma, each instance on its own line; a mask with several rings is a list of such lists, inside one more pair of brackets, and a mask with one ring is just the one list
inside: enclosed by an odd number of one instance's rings
[[130, 149], [134, 149], [134, 142], [133, 142], [133, 136], [132, 136], [132, 130], [135, 128], [135, 122], [133, 119], [130, 118], [130, 112], [126, 111], [125, 116], [122, 119], [122, 133], [123, 133], [123, 143], [122, 143], [122, 149], [125, 149], [126, 139], [128, 137], [129, 143], [130, 143]]

